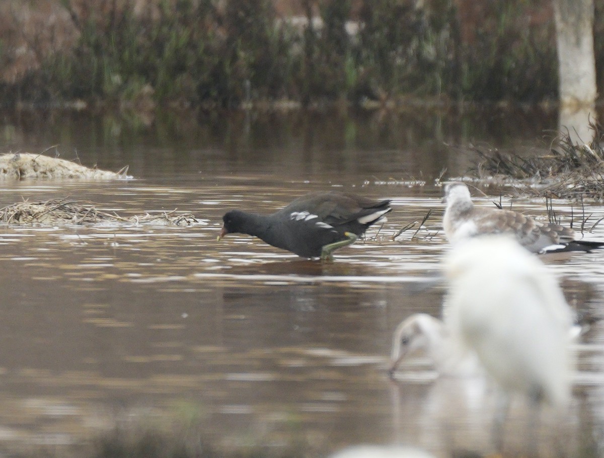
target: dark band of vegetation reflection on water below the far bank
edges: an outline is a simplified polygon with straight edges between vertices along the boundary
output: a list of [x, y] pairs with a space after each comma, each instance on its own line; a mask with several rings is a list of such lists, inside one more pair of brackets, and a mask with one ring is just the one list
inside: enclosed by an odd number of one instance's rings
[[[231, 192], [282, 179], [429, 178], [443, 169], [459, 175], [473, 165], [460, 152], [468, 144], [500, 149], [535, 144], [557, 129], [557, 113], [539, 108], [511, 110], [467, 106], [428, 112], [333, 111], [181, 115], [159, 113], [150, 127], [111, 115], [47, 112], [4, 114], [6, 151], [40, 152], [58, 144], [61, 158], [117, 171], [124, 165], [138, 178], [211, 181], [230, 178]], [[54, 152], [55, 149], [53, 149]], [[186, 176], [191, 172], [199, 176]], [[353, 184], [344, 180], [345, 184]], [[241, 181], [239, 181], [241, 180]], [[237, 182], [241, 187], [237, 187]], [[222, 196], [226, 197], [226, 196]]]

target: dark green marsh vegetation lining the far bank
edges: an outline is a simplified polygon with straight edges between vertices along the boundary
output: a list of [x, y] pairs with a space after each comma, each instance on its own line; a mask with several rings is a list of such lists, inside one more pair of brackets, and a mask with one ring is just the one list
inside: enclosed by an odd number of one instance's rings
[[62, 0], [76, 44], [5, 83], [2, 95], [140, 111], [158, 102], [555, 95], [553, 21], [530, 24], [541, 1], [483, 2], [468, 18], [452, 0], [361, 0], [356, 10], [350, 0], [306, 0], [307, 19], [315, 3], [321, 21], [294, 26], [277, 20], [271, 0], [159, 0], [141, 10], [133, 1]]

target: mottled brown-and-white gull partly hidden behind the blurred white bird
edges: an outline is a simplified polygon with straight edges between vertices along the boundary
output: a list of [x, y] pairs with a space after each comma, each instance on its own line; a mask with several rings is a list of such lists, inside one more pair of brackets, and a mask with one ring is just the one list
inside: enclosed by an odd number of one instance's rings
[[518, 211], [475, 207], [467, 185], [451, 182], [445, 185], [447, 204], [443, 226], [451, 244], [484, 234], [510, 234], [533, 253], [590, 251], [604, 242], [576, 240], [571, 228], [539, 222]]

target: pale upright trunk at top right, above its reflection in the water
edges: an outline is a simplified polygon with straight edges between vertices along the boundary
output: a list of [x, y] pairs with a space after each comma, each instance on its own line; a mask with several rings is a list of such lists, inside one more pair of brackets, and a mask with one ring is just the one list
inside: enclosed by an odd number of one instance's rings
[[596, 100], [594, 0], [553, 0], [560, 102], [567, 108]]

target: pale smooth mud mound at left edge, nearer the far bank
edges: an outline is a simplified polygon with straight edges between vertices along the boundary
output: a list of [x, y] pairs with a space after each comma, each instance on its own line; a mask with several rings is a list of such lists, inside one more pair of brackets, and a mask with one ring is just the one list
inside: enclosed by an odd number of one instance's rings
[[119, 172], [91, 169], [72, 161], [43, 153], [6, 153], [0, 155], [0, 178], [84, 178], [84, 179], [132, 179], [127, 175], [128, 166]]

